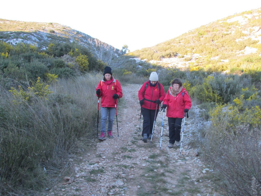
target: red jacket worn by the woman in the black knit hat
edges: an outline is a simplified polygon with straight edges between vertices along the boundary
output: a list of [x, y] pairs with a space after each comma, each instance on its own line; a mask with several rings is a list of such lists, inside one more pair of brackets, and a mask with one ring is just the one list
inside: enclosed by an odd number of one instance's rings
[[[112, 98], [114, 94], [117, 94], [119, 98], [122, 98], [121, 83], [118, 80], [113, 79], [113, 81], [107, 85], [104, 80], [101, 80], [96, 87], [96, 91], [100, 89], [100, 106], [115, 108], [115, 100]], [[96, 94], [98, 97], [98, 95]], [[118, 107], [118, 99], [116, 99], [116, 107]]]

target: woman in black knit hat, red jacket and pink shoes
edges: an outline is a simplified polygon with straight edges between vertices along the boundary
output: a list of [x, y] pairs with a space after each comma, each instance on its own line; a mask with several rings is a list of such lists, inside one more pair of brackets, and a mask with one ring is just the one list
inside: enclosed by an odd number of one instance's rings
[[101, 80], [96, 87], [97, 97], [101, 97], [101, 134], [99, 140], [106, 140], [106, 122], [108, 118], [108, 137], [114, 138], [112, 135], [112, 125], [116, 107], [118, 106], [118, 99], [122, 97], [121, 84], [118, 80], [112, 77], [111, 68], [105, 67], [103, 72], [103, 80]]

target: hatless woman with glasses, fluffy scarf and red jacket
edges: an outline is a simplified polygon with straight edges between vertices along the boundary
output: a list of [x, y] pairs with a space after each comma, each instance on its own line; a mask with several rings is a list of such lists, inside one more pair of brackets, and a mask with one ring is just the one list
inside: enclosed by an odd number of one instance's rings
[[[181, 122], [191, 108], [191, 99], [180, 79], [175, 78], [163, 99], [163, 108], [167, 108], [169, 123], [169, 148], [180, 146]], [[175, 143], [176, 141], [176, 143]]]

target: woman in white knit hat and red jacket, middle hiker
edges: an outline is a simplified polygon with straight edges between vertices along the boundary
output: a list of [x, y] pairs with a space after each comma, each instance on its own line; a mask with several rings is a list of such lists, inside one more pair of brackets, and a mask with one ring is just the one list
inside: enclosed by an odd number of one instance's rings
[[143, 116], [142, 141], [147, 142], [152, 137], [155, 112], [157, 117], [159, 105], [165, 97], [163, 85], [158, 82], [158, 74], [156, 72], [152, 72], [149, 81], [141, 86], [138, 97]]

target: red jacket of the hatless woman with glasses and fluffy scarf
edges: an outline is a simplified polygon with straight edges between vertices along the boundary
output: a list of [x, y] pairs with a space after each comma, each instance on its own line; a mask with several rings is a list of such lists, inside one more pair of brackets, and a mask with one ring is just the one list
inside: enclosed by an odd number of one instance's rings
[[[184, 96], [182, 95], [183, 92]], [[192, 106], [191, 99], [184, 87], [176, 97], [172, 96], [168, 90], [165, 98], [163, 99], [163, 104], [167, 105], [168, 108], [166, 116], [170, 118], [184, 118], [185, 108], [190, 109]]]

